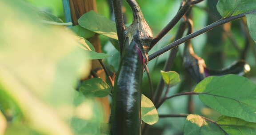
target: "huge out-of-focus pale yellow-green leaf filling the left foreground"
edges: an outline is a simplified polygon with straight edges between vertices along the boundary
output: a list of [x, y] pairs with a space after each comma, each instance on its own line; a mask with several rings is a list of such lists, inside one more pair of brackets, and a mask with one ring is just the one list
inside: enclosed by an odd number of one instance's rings
[[72, 135], [65, 120], [72, 86], [89, 71], [86, 54], [71, 32], [42, 25], [21, 0], [1, 0], [0, 9], [1, 102], [15, 103], [22, 123], [44, 135]]

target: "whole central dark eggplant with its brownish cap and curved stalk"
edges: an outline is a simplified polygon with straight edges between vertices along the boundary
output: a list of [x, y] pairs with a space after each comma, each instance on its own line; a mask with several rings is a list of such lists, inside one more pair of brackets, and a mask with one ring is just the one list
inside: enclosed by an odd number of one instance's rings
[[112, 135], [141, 135], [141, 85], [143, 66], [148, 62], [152, 31], [135, 0], [126, 0], [133, 12], [125, 30], [124, 48], [113, 88]]

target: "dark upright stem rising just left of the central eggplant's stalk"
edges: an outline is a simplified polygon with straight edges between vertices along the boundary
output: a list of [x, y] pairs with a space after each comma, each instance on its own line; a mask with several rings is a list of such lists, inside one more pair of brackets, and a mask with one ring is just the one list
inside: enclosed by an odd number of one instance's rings
[[118, 36], [119, 50], [122, 54], [124, 45], [124, 17], [122, 14], [121, 0], [112, 0], [113, 10], [115, 14], [116, 21], [116, 31]]

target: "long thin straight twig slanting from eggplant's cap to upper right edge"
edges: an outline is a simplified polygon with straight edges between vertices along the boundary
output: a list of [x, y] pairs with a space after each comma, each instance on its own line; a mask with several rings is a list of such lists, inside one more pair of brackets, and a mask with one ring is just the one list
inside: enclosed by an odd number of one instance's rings
[[228, 23], [230, 21], [233, 21], [233, 20], [236, 20], [236, 19], [239, 19], [241, 17], [244, 17], [246, 14], [249, 14], [249, 13], [252, 13], [252, 12], [256, 12], [256, 10], [252, 10], [252, 11], [249, 11], [249, 12], [244, 12], [244, 13], [241, 13], [241, 14], [238, 14], [236, 16], [231, 16], [231, 17], [227, 17], [227, 18], [222, 18], [221, 20], [218, 20], [202, 29], [200, 29], [199, 31], [197, 32], [194, 32], [192, 34], [189, 34], [188, 36], [185, 36], [184, 38], [180, 39], [180, 40], [176, 40], [174, 41], [172, 44], [169, 44], [168, 46], [164, 47], [164, 48], [161, 48], [160, 50], [154, 52], [153, 54], [151, 54], [150, 56], [148, 56], [148, 60], [152, 60], [154, 58], [156, 58], [157, 56], [160, 56], [161, 54], [163, 54], [164, 52], [167, 52], [173, 48], [176, 48], [177, 46], [179, 46], [180, 44], [196, 37], [196, 36], [199, 36], [205, 32], [208, 32], [210, 30], [212, 30], [213, 28], [216, 28], [217, 26], [220, 26], [222, 24], [225, 24], [225, 23]]

